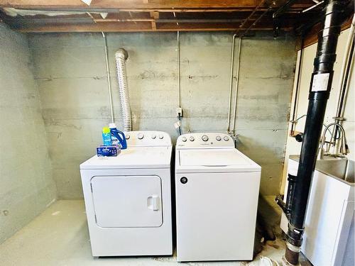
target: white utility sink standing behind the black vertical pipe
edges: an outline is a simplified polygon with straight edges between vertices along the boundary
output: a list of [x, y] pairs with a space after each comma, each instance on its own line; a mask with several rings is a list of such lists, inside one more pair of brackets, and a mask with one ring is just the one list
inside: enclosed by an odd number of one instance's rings
[[[291, 155], [288, 173], [295, 175], [299, 155]], [[287, 195], [287, 184], [285, 195]], [[354, 160], [324, 156], [317, 160], [305, 216], [301, 251], [314, 266], [355, 265]], [[288, 230], [283, 215], [281, 228]]]

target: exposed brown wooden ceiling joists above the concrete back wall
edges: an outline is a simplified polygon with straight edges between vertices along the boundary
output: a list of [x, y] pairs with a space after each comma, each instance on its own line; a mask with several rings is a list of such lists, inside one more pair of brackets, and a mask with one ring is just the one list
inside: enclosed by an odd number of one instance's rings
[[[268, 9], [269, 5], [275, 10], [285, 1], [92, 0], [88, 6], [81, 0], [0, 0], [0, 19], [22, 32], [236, 31], [241, 21], [252, 13], [246, 28], [272, 30], [273, 11]], [[312, 4], [312, 0], [297, 0], [280, 28], [286, 31], [293, 28], [297, 14]], [[7, 15], [6, 8], [17, 9], [17, 12], [21, 9], [22, 16]], [[266, 10], [267, 16], [258, 21]], [[46, 13], [38, 14], [38, 11], [80, 13], [46, 16]], [[99, 13], [107, 13], [107, 16], [102, 17]], [[255, 22], [258, 23], [252, 25]]]

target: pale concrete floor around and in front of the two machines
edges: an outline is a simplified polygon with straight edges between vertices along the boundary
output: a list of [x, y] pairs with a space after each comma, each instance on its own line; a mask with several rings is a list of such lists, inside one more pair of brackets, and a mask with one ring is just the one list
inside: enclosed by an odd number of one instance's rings
[[268, 241], [253, 262], [179, 263], [174, 257], [93, 258], [84, 201], [56, 201], [43, 214], [0, 245], [0, 265], [259, 265], [260, 257], [278, 262], [285, 252], [283, 240]]

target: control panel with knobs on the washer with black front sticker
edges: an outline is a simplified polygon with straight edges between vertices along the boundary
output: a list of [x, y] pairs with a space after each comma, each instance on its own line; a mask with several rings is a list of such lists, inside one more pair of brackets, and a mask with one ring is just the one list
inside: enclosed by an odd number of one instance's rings
[[224, 133], [187, 133], [179, 136], [176, 148], [234, 148], [234, 140]]

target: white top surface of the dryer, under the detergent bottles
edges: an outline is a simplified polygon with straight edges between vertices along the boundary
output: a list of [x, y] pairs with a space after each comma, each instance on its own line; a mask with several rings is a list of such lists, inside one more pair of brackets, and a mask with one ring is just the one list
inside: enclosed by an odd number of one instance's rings
[[121, 150], [117, 157], [91, 157], [80, 169], [131, 169], [170, 167], [172, 148], [131, 147]]

